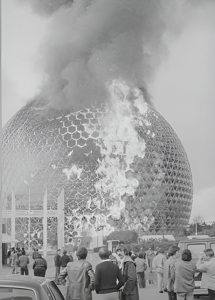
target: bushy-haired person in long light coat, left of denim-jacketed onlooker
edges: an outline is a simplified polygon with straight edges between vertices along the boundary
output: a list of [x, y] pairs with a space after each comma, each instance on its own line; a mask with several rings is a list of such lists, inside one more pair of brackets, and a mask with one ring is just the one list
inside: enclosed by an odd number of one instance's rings
[[179, 258], [180, 248], [176, 245], [169, 247], [168, 255], [169, 258], [164, 262], [163, 265], [163, 291], [168, 292], [169, 300], [176, 300], [176, 293], [174, 292], [174, 281], [175, 281], [175, 262]]

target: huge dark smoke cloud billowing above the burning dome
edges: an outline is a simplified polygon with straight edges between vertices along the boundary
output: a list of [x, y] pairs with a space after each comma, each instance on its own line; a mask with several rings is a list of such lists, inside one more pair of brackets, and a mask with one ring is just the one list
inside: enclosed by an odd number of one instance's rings
[[49, 15], [49, 35], [40, 52], [46, 73], [40, 97], [55, 107], [103, 102], [113, 79], [146, 91], [167, 54], [169, 29], [178, 33], [184, 12], [183, 0], [28, 3]]

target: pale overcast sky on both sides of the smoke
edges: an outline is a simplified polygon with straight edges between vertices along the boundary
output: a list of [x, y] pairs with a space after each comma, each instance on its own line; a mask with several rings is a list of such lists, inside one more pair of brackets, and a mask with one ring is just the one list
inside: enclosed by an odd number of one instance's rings
[[[202, 0], [204, 3], [204, 0]], [[215, 220], [215, 3], [205, 1], [187, 28], [169, 42], [150, 93], [156, 110], [178, 134], [190, 161], [194, 195], [191, 220]], [[2, 122], [37, 94], [35, 63], [47, 20], [12, 0], [2, 0]]]

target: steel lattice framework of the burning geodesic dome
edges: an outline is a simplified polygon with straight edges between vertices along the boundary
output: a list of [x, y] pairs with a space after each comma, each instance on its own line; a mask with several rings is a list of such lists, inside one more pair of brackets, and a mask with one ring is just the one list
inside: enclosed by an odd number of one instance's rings
[[[71, 112], [49, 109], [42, 101], [32, 101], [3, 128], [5, 207], [10, 209], [13, 188], [16, 209], [28, 209], [26, 180], [34, 210], [42, 208], [46, 187], [48, 209], [56, 208], [57, 196], [64, 188], [65, 236], [83, 229], [94, 230], [99, 224], [105, 224], [107, 230], [143, 228], [151, 232], [187, 225], [193, 184], [186, 152], [158, 112], [148, 108], [145, 117], [146, 122], [135, 125], [139, 138], [146, 143], [145, 155], [142, 158], [135, 155], [131, 171], [126, 172], [126, 180], [130, 183], [136, 180], [138, 184], [133, 185], [133, 194], [116, 198], [104, 186], [101, 192], [104, 174], [98, 170], [105, 159], [100, 137], [102, 106]], [[116, 215], [112, 211], [117, 207]], [[56, 221], [48, 219], [50, 241], [57, 232]], [[19, 240], [25, 239], [27, 223], [26, 218], [16, 222]], [[37, 234], [37, 238], [42, 234], [40, 218], [31, 218], [31, 234], [32, 237]]]

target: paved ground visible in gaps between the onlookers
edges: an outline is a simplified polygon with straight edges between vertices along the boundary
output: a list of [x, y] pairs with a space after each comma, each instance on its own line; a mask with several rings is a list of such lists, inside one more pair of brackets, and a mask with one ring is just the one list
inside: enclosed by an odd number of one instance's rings
[[[95, 270], [96, 265], [101, 261], [98, 253], [89, 253], [87, 256], [87, 260], [89, 262], [91, 262], [92, 266], [93, 266], [93, 270]], [[54, 278], [55, 277], [55, 268], [54, 268], [54, 255], [48, 255], [47, 257], [47, 264], [48, 264], [48, 268], [46, 271], [46, 277], [49, 278]], [[33, 271], [33, 259], [32, 257], [30, 258], [30, 264], [28, 266], [29, 269], [29, 275], [30, 276], [34, 276], [34, 271]], [[12, 273], [13, 268], [9, 267], [9, 266], [3, 266], [3, 272], [4, 274], [11, 274]], [[18, 271], [20, 271], [20, 268], [18, 268]], [[21, 276], [21, 275], [20, 275]], [[158, 292], [158, 287], [156, 284], [156, 272], [153, 271], [152, 273], [149, 273], [148, 270], [146, 270], [145, 272], [145, 278], [147, 279], [153, 279], [155, 281], [154, 285], [149, 285], [146, 283], [146, 288], [145, 289], [139, 289], [139, 296], [140, 296], [140, 300], [168, 300], [168, 296], [166, 293], [159, 293]], [[58, 286], [59, 289], [61, 290], [62, 294], [65, 295], [65, 286]], [[93, 300], [99, 300], [99, 295], [97, 295], [95, 292], [93, 292]], [[199, 299], [204, 299], [207, 300], [209, 299], [208, 297], [205, 298], [199, 298]]]

